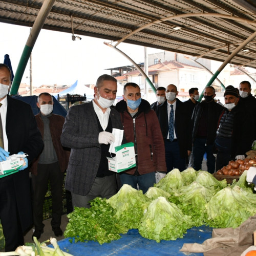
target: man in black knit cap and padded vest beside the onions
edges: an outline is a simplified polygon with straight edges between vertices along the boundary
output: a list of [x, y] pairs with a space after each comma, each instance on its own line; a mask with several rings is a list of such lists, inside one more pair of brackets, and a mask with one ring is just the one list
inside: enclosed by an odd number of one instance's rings
[[[216, 170], [227, 165], [230, 160], [244, 159], [251, 149], [254, 138], [252, 114], [238, 105], [239, 91], [228, 86], [224, 93], [224, 110], [219, 118], [215, 145], [218, 149]], [[249, 124], [249, 125], [248, 125]]]

